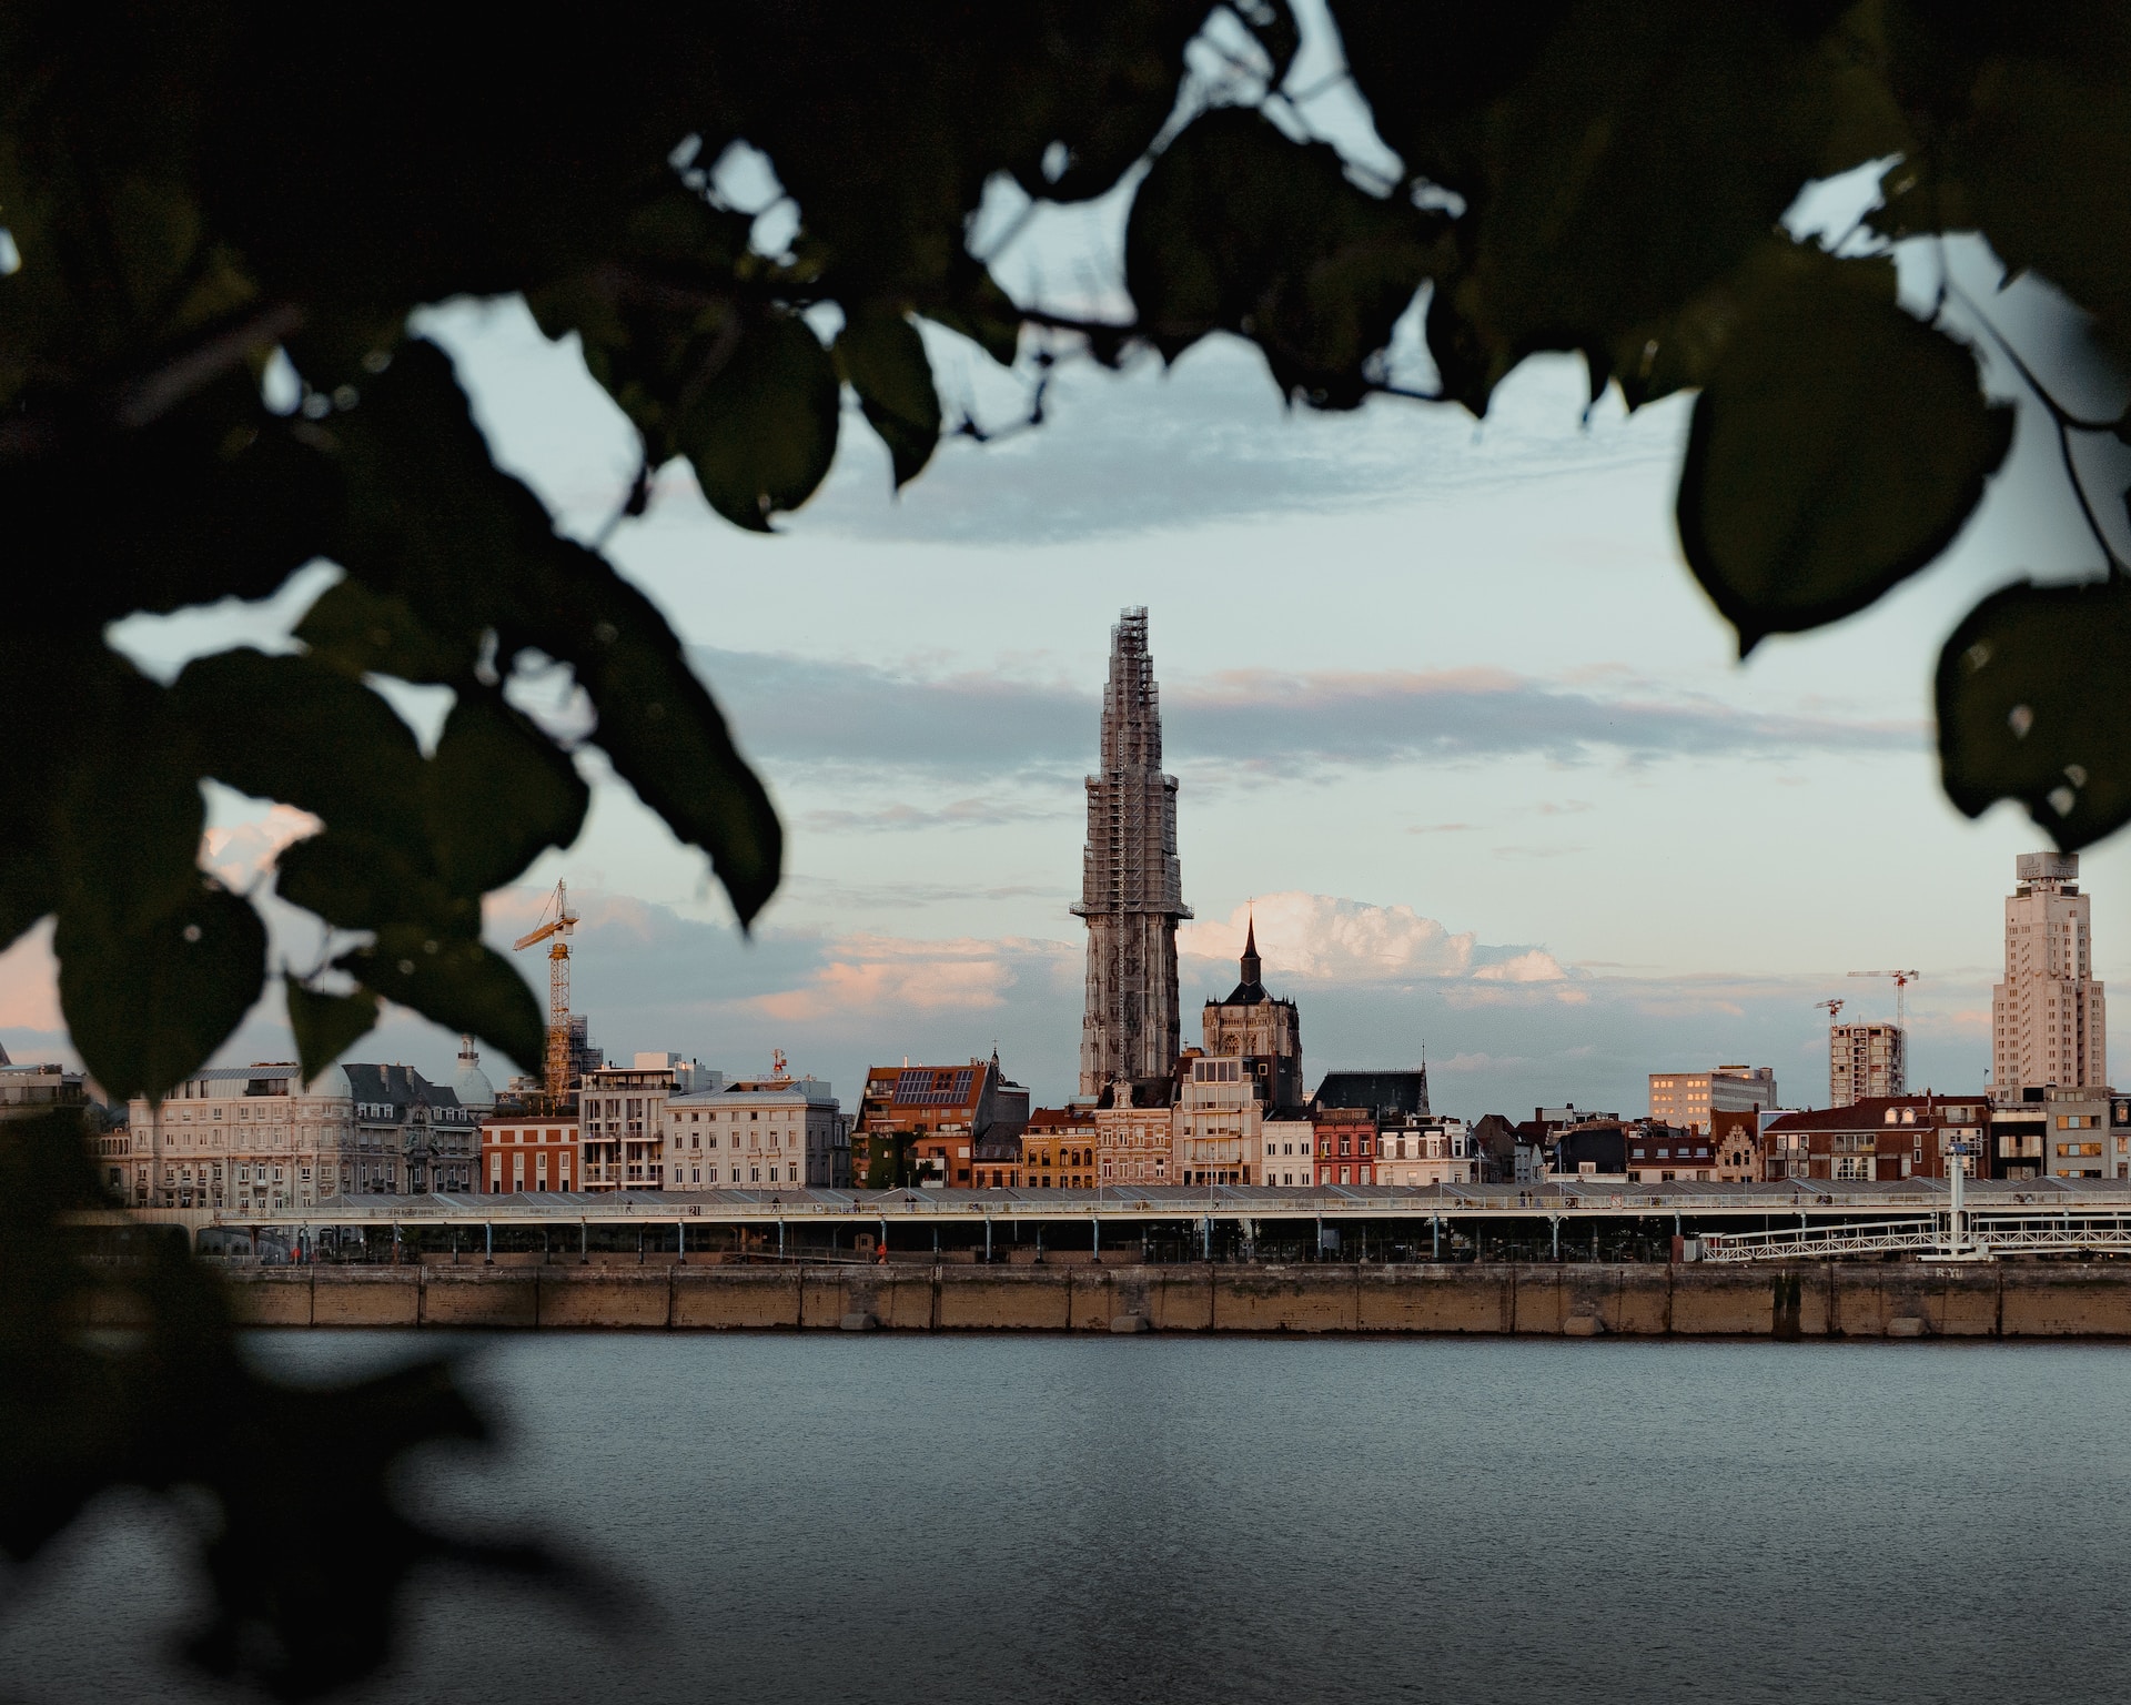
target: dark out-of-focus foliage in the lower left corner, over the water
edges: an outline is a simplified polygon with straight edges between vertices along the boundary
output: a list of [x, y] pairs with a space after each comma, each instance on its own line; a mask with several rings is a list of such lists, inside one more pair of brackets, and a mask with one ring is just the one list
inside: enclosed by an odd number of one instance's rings
[[403, 1592], [430, 1564], [612, 1609], [601, 1581], [535, 1543], [462, 1539], [405, 1511], [394, 1475], [409, 1451], [488, 1439], [443, 1360], [343, 1383], [271, 1379], [239, 1351], [222, 1283], [181, 1230], [68, 1223], [96, 1208], [109, 1204], [77, 1115], [0, 1123], [6, 1556], [34, 1558], [107, 1485], [205, 1492], [213, 1522], [188, 1526], [213, 1611], [185, 1656], [279, 1699], [381, 1665]]

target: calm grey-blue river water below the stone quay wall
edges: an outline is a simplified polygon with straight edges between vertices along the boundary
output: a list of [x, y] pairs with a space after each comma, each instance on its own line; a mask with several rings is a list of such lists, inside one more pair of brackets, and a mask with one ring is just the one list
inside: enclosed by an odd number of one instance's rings
[[[465, 1577], [360, 1699], [1973, 1701], [2131, 1682], [2108, 1345], [260, 1334], [452, 1343], [505, 1419], [437, 1520], [539, 1522], [616, 1628]], [[0, 1613], [0, 1696], [224, 1694], [109, 1498]]]

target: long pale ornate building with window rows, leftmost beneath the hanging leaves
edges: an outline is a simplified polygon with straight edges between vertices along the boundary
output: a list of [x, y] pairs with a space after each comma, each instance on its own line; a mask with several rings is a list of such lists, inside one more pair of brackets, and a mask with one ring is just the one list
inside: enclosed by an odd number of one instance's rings
[[305, 1208], [341, 1187], [341, 1172], [384, 1179], [398, 1153], [356, 1134], [347, 1074], [339, 1066], [305, 1085], [296, 1066], [196, 1072], [160, 1106], [136, 1095], [128, 1153], [104, 1155], [134, 1206]]

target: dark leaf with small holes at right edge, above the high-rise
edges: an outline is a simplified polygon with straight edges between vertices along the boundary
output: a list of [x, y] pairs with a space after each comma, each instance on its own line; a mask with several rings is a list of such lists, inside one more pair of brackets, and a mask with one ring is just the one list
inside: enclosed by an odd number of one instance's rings
[[2131, 586], [2022, 582], [1939, 652], [1939, 769], [1969, 816], [2018, 799], [2065, 852], [2131, 823]]

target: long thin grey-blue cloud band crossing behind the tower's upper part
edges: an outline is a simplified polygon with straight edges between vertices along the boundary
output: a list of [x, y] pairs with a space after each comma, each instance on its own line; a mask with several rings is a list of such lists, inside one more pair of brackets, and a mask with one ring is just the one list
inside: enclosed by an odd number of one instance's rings
[[[1095, 754], [1093, 684], [1023, 680], [999, 671], [925, 673], [882, 663], [690, 648], [748, 750], [784, 765], [829, 765], [878, 778], [1048, 776], [1063, 782]], [[1801, 750], [1909, 750], [1912, 722], [1854, 722], [1741, 710], [1664, 695], [1632, 680], [1581, 688], [1507, 669], [1379, 669], [1283, 673], [1242, 669], [1174, 678], [1161, 691], [1172, 767], [1302, 776], [1325, 765], [1381, 767], [1536, 754], [1588, 763], [1611, 754], [1790, 757]], [[897, 799], [820, 814], [831, 831], [948, 827], [1070, 814], [1036, 801]], [[1581, 810], [1553, 806], [1547, 814]], [[1470, 825], [1428, 825], [1447, 833]]]

